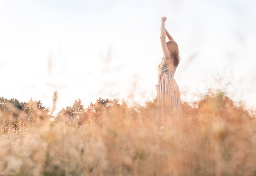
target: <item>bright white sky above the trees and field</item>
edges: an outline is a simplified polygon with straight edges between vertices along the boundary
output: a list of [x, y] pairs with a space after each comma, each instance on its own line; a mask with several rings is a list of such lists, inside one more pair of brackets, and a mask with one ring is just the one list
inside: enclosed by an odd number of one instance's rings
[[57, 91], [57, 110], [152, 100], [162, 16], [182, 101], [218, 89], [255, 109], [255, 0], [0, 0], [0, 97], [51, 108]]

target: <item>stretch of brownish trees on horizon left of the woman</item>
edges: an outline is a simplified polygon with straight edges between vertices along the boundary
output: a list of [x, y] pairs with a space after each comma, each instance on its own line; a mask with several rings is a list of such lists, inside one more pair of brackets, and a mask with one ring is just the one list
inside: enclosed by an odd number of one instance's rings
[[30, 99], [28, 102], [21, 102], [18, 99], [6, 99], [0, 97], [0, 125], [14, 125], [34, 123], [37, 120], [44, 121], [51, 119], [53, 124], [65, 123], [66, 125], [82, 125], [85, 122], [96, 122], [104, 114], [111, 116], [132, 118], [153, 117], [156, 111], [156, 101], [146, 101], [144, 106], [128, 107], [127, 103], [118, 99], [99, 98], [95, 103], [90, 103], [84, 108], [80, 99], [74, 101], [72, 106], [67, 106], [53, 115], [48, 107], [43, 106], [42, 101]]

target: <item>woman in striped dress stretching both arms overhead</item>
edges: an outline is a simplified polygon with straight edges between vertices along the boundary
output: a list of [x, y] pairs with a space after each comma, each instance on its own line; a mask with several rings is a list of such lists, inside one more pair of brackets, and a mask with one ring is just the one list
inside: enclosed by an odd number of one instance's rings
[[[164, 57], [159, 64], [157, 87], [157, 120], [160, 125], [173, 126], [175, 121], [181, 118], [182, 104], [180, 100], [180, 89], [173, 78], [176, 68], [180, 62], [179, 48], [173, 37], [165, 29], [166, 17], [162, 17], [161, 45]], [[169, 42], [166, 43], [166, 35]]]

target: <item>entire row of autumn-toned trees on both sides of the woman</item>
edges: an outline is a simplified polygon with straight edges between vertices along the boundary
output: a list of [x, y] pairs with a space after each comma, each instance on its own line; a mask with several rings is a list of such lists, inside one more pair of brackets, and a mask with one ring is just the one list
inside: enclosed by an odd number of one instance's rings
[[[225, 118], [227, 121], [254, 120], [255, 115], [250, 114], [245, 107], [235, 106], [234, 102], [223, 93], [206, 95], [203, 99], [191, 106], [182, 102], [184, 119], [207, 122], [214, 117]], [[18, 99], [6, 99], [0, 97], [0, 125], [6, 127], [17, 124], [33, 124], [36, 121], [51, 120], [53, 125], [63, 124], [81, 126], [86, 122], [100, 123], [104, 117], [140, 118], [141, 121], [155, 119], [156, 99], [148, 100], [144, 105], [128, 106], [126, 101], [118, 99], [99, 98], [95, 103], [85, 108], [80, 99], [74, 101], [72, 106], [67, 106], [56, 115], [43, 106], [42, 101], [30, 99], [28, 102], [20, 102]]]

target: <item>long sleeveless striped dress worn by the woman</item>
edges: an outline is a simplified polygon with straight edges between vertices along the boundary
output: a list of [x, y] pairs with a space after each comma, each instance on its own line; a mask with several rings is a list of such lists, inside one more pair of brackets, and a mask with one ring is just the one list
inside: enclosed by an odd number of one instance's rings
[[173, 78], [177, 67], [159, 64], [157, 87], [157, 121], [173, 126], [182, 116], [180, 89]]

